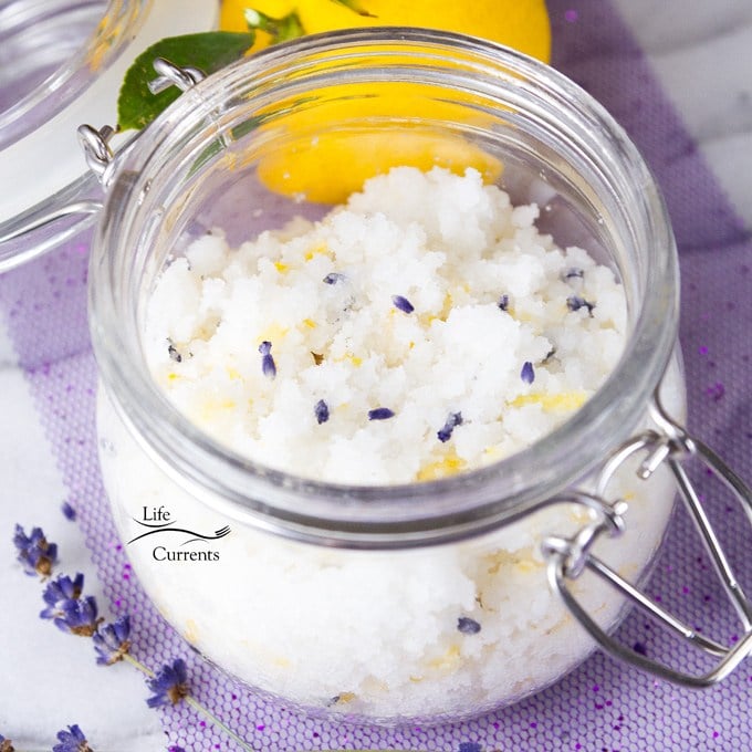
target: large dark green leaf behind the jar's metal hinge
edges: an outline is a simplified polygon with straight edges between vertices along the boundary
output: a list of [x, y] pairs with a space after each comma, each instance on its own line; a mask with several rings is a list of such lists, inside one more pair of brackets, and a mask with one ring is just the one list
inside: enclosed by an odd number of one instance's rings
[[117, 119], [122, 130], [140, 129], [166, 109], [181, 92], [170, 86], [165, 92], [152, 94], [148, 84], [157, 77], [154, 61], [164, 58], [180, 66], [198, 67], [215, 73], [240, 60], [253, 44], [254, 33], [209, 31], [185, 36], [169, 36], [142, 52], [125, 74], [117, 100]]

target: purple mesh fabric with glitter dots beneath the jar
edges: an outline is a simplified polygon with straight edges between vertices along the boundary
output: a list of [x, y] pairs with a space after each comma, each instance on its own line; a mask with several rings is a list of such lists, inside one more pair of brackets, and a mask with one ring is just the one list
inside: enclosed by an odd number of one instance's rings
[[[690, 425], [742, 477], [752, 478], [749, 295], [752, 244], [660, 91], [640, 51], [606, 0], [575, 9], [549, 0], [554, 65], [583, 84], [627, 127], [666, 194], [681, 251], [682, 322]], [[158, 668], [189, 665], [197, 699], [258, 750], [742, 750], [752, 739], [750, 667], [707, 691], [680, 689], [596, 654], [554, 687], [473, 721], [389, 731], [301, 718], [255, 697], [203, 664], [156, 614], [117, 541], [97, 469], [94, 389], [85, 311], [86, 246], [73, 243], [0, 278], [0, 310], [25, 369], [46, 435], [79, 512], [114, 614], [128, 612], [134, 650]], [[714, 481], [700, 476], [703, 494]], [[740, 510], [709, 502], [742, 582], [750, 540]], [[703, 633], [732, 638], [733, 619], [690, 523], [678, 516], [649, 584], [651, 595], [683, 608]], [[690, 660], [631, 616], [620, 635], [649, 656]], [[186, 750], [237, 746], [185, 703], [164, 712], [170, 743]], [[92, 743], [96, 746], [96, 740]], [[464, 749], [473, 749], [467, 744]]]

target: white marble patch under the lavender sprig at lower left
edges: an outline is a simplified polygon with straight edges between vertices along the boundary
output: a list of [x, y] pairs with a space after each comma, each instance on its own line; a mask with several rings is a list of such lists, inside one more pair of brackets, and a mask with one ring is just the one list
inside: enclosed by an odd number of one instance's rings
[[142, 676], [124, 664], [97, 666], [91, 640], [39, 618], [43, 585], [9, 555], [14, 523], [41, 526], [59, 545], [60, 571], [82, 572], [86, 592], [106, 603], [83, 535], [61, 513], [67, 497], [4, 330], [0, 330], [0, 733], [18, 752], [50, 750], [77, 723], [98, 752], [165, 749], [159, 716], [146, 707]]

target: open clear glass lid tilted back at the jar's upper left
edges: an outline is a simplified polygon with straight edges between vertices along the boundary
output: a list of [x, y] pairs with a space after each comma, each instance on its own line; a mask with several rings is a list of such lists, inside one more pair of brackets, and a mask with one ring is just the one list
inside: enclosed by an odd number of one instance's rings
[[[216, 0], [15, 0], [0, 9], [0, 185], [12, 186], [0, 201], [0, 238], [91, 198], [96, 180], [77, 127], [115, 125], [121, 83], [148, 46], [216, 24]], [[0, 271], [53, 248], [87, 220], [82, 215], [44, 237], [0, 243]]]

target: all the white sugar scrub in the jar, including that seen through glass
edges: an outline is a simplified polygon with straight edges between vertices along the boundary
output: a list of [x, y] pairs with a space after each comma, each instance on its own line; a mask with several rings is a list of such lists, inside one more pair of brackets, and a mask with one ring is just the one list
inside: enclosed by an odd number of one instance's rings
[[[491, 463], [576, 410], [626, 337], [613, 273], [539, 233], [536, 213], [473, 171], [399, 168], [320, 222], [238, 250], [212, 232], [154, 290], [154, 378], [222, 445], [297, 476], [410, 483]], [[540, 550], [582, 528], [583, 508], [427, 549], [307, 545], [240, 522], [155, 461], [104, 390], [98, 420], [116, 522], [154, 603], [208, 658], [288, 703], [440, 721], [535, 691], [593, 649]], [[627, 532], [596, 551], [636, 578], [672, 491], [660, 471], [625, 472], [610, 490], [628, 499]], [[157, 509], [207, 540], [139, 539]], [[587, 577], [574, 587], [615, 622], [613, 591]]]

